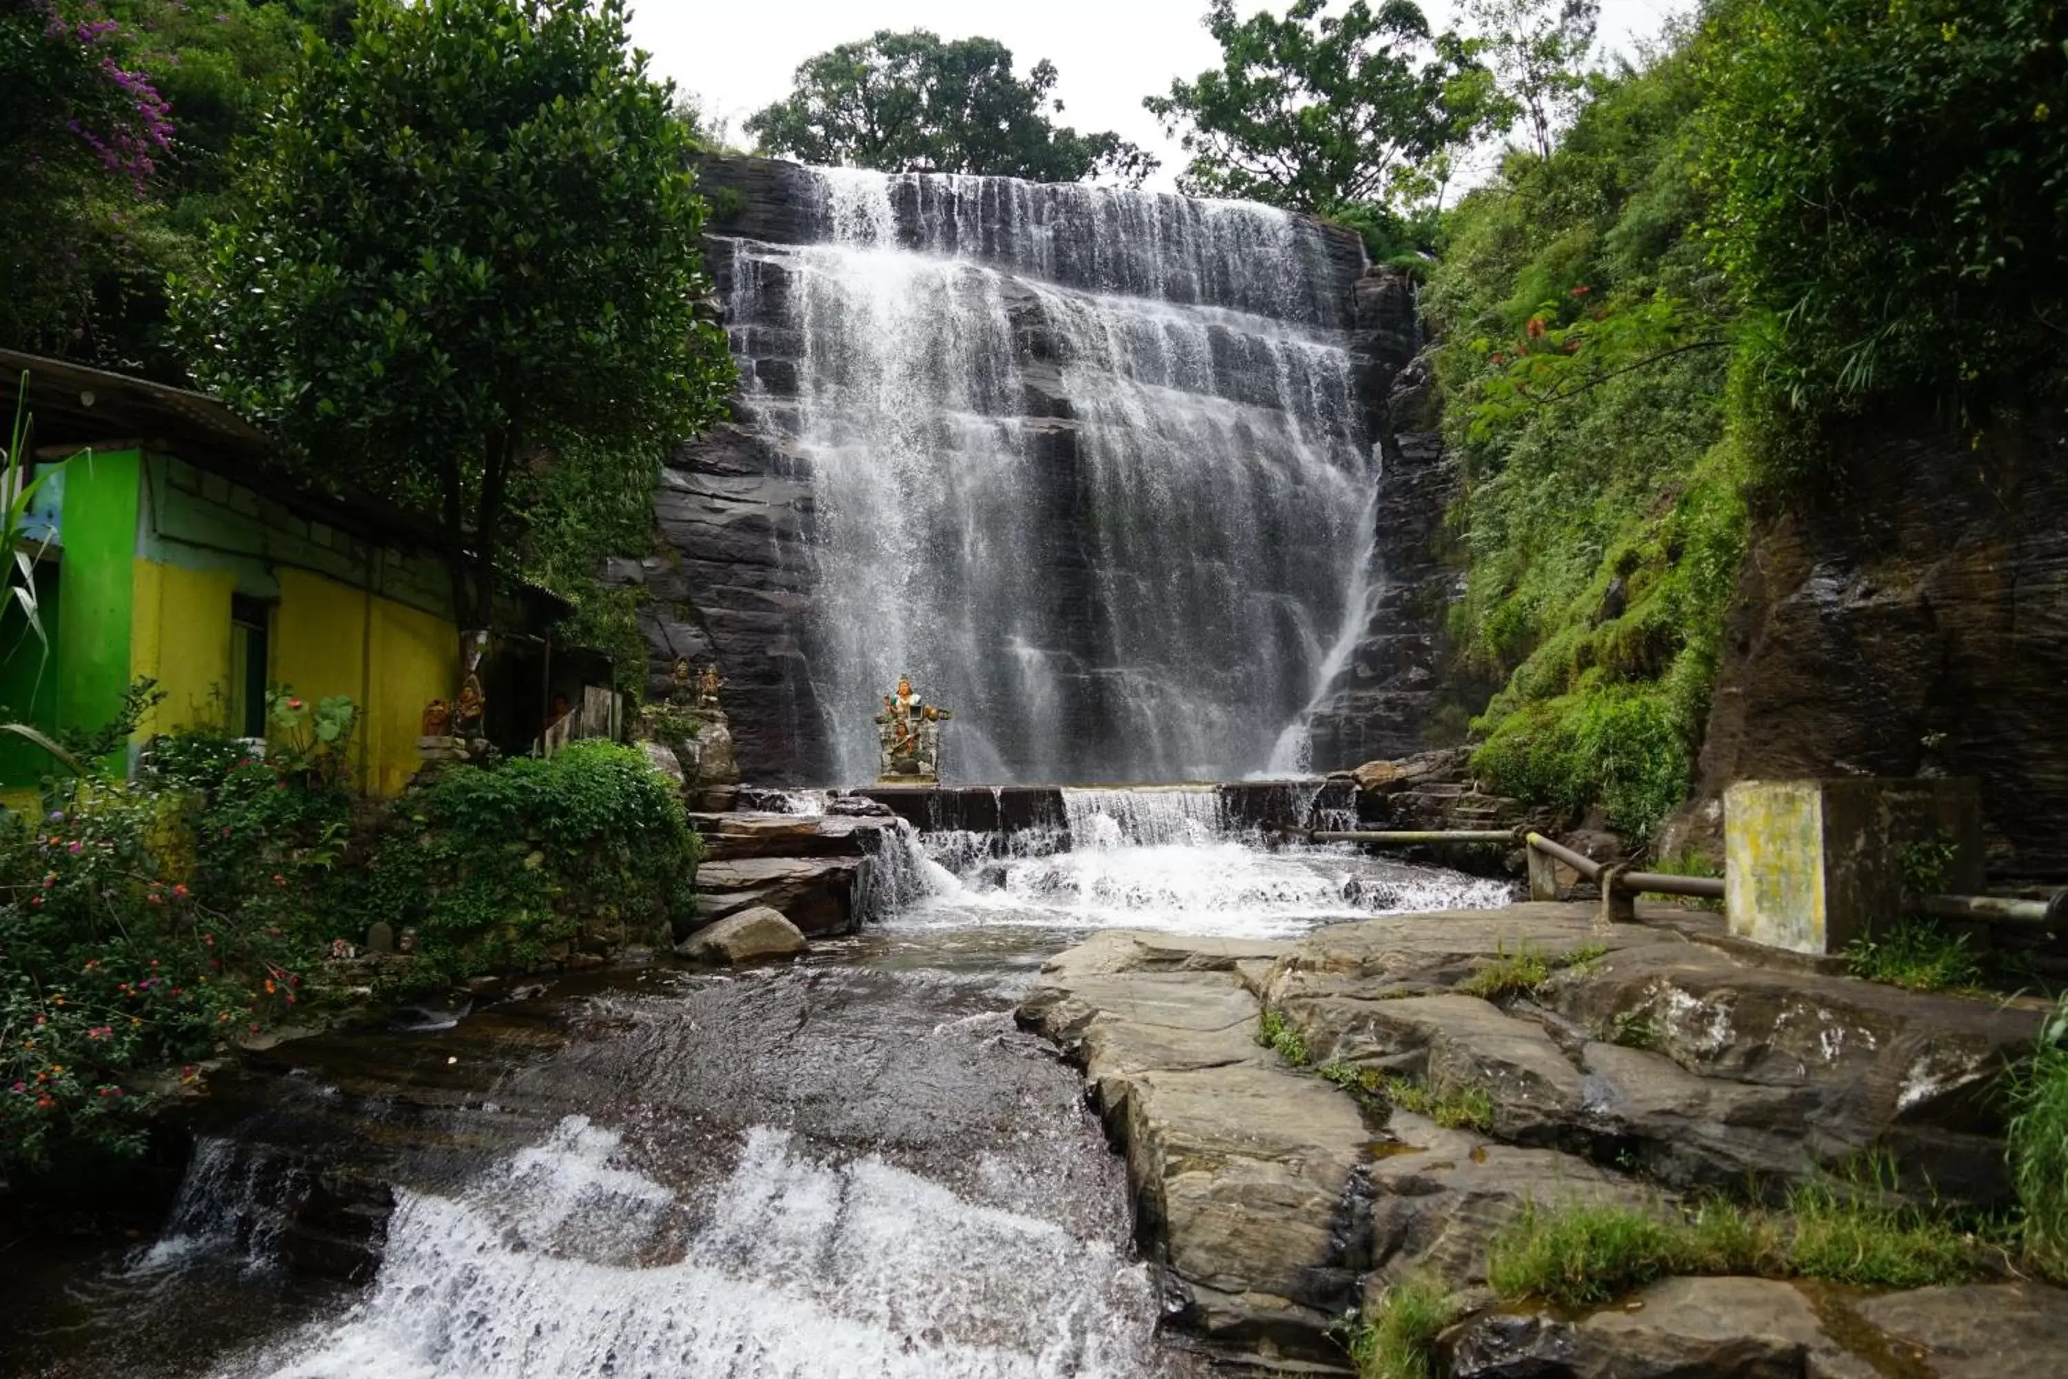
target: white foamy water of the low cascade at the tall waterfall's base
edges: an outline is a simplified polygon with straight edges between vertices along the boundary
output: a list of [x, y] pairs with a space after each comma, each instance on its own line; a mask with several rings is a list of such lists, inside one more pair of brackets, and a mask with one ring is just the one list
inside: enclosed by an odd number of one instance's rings
[[[1065, 790], [1067, 837], [906, 839], [889, 928], [1154, 928], [1282, 939], [1315, 924], [1514, 899], [1503, 881], [1402, 866], [1355, 848], [1266, 850], [1214, 790]], [[1065, 846], [1067, 844], [1067, 846]]]

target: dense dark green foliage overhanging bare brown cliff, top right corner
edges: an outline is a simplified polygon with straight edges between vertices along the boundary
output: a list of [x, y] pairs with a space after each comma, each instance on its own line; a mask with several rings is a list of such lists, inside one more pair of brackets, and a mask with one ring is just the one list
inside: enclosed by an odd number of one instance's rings
[[1797, 411], [2047, 397], [2068, 320], [2056, 0], [1733, 0], [1696, 41], [1708, 236]]

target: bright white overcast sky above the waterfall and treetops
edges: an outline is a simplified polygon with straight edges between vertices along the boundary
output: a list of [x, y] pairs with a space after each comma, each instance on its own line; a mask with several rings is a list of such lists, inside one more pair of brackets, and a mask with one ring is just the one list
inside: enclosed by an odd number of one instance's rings
[[[1694, 0], [1603, 0], [1601, 41], [1630, 50], [1659, 33]], [[1177, 141], [1164, 139], [1142, 97], [1168, 91], [1175, 76], [1214, 66], [1220, 50], [1202, 27], [1208, 0], [633, 0], [633, 41], [653, 54], [653, 70], [701, 97], [716, 120], [740, 122], [790, 93], [796, 64], [877, 29], [933, 29], [941, 37], [995, 37], [1013, 50], [1022, 76], [1042, 58], [1061, 79], [1063, 122], [1079, 130], [1119, 130], [1162, 157], [1152, 186], [1168, 186], [1183, 167]], [[1266, 8], [1241, 0], [1239, 14]], [[1282, 10], [1284, 0], [1270, 8]], [[1443, 29], [1452, 0], [1423, 0]]]

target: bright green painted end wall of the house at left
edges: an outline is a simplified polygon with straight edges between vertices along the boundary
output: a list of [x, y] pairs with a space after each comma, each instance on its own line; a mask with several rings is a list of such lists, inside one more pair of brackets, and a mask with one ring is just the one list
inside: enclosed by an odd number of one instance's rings
[[130, 678], [136, 494], [141, 455], [85, 455], [64, 469], [64, 556], [58, 600], [64, 629], [52, 662], [58, 724], [99, 728], [122, 705]]

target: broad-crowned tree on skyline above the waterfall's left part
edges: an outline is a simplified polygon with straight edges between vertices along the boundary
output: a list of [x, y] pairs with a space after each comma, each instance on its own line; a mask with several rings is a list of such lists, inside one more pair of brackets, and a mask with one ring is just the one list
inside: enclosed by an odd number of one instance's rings
[[796, 68], [796, 89], [749, 116], [765, 153], [807, 163], [904, 172], [968, 172], [1032, 182], [1111, 176], [1139, 186], [1156, 159], [1119, 134], [1057, 126], [1057, 70], [1036, 62], [1013, 76], [1013, 54], [997, 39], [879, 31]]

